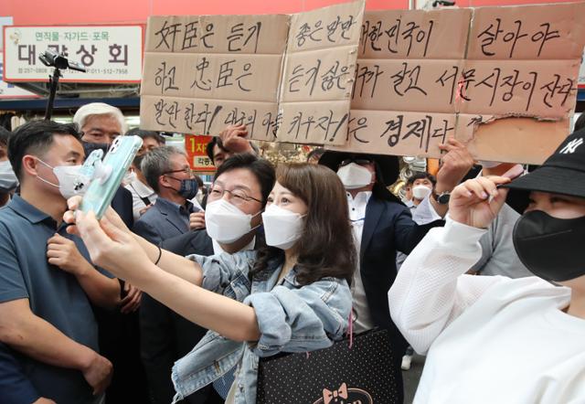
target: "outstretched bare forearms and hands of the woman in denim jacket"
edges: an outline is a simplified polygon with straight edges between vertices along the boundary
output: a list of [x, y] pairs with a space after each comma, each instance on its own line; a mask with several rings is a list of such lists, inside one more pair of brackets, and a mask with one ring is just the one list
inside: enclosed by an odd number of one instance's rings
[[[98, 222], [92, 213], [85, 215], [78, 211], [76, 227], [91, 260], [101, 268], [131, 282], [186, 319], [229, 339], [256, 341], [259, 338], [256, 314], [249, 305], [197, 286], [203, 282], [197, 262], [160, 250], [114, 226], [106, 217]], [[158, 263], [167, 271], [161, 271], [153, 263], [158, 260], [159, 251], [163, 253]]]

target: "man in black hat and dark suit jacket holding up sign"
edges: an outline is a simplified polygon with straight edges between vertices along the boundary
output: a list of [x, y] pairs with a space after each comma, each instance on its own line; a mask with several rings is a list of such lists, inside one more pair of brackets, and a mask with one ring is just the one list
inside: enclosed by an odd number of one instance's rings
[[[443, 156], [435, 188], [441, 193], [441, 202], [473, 165], [463, 144], [453, 141], [444, 149], [448, 154]], [[352, 282], [354, 330], [387, 329], [394, 354], [391, 365], [401, 375], [400, 361], [408, 343], [392, 322], [388, 308], [388, 290], [397, 275], [396, 252], [409, 254], [429, 229], [442, 226], [443, 221], [418, 225], [412, 220], [410, 209], [388, 191], [387, 186], [399, 175], [396, 156], [325, 152], [319, 164], [336, 171], [347, 190], [349, 217], [359, 255], [358, 271]], [[430, 200], [435, 212], [444, 216], [447, 206], [434, 198]], [[398, 382], [402, 384], [401, 379]], [[399, 386], [399, 392], [402, 391]]]

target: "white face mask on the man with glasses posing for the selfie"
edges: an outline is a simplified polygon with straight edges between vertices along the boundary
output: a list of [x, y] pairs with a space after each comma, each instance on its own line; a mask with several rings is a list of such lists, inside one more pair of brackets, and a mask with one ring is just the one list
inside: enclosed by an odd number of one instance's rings
[[205, 210], [207, 234], [220, 243], [232, 243], [253, 230], [250, 221], [258, 214], [244, 213], [225, 199], [209, 202]]

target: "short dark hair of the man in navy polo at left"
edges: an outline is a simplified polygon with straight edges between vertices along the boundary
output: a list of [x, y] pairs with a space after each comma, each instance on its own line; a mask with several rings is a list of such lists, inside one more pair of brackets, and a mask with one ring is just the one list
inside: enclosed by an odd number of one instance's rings
[[75, 123], [31, 121], [18, 127], [10, 135], [8, 159], [19, 180], [22, 180], [22, 158], [25, 154], [41, 156], [47, 153], [56, 134], [73, 136], [81, 144], [81, 134]]

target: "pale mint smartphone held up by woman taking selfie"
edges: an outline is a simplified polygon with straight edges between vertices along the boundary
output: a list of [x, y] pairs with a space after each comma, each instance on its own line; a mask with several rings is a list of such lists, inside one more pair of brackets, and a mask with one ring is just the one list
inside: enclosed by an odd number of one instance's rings
[[95, 165], [90, 186], [81, 200], [81, 211], [93, 211], [98, 219], [103, 216], [142, 145], [138, 136], [116, 137], [101, 164]]

